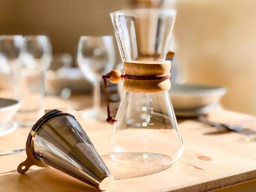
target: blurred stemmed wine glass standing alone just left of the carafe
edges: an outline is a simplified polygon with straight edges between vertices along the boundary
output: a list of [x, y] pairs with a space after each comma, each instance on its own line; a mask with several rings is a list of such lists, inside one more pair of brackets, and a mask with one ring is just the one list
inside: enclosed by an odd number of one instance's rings
[[84, 77], [94, 87], [93, 108], [82, 114], [83, 118], [103, 119], [100, 110], [100, 82], [102, 75], [115, 65], [115, 49], [112, 36], [81, 36], [78, 44], [77, 61]]

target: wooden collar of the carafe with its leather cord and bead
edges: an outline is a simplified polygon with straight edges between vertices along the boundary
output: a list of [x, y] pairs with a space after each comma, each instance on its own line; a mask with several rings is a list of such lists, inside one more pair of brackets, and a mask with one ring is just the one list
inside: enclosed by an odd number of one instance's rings
[[125, 74], [121, 74], [118, 70], [112, 70], [110, 73], [103, 75], [102, 79], [108, 109], [106, 122], [113, 124], [117, 121], [110, 113], [110, 91], [107, 79], [112, 83], [118, 83], [123, 78], [123, 88], [125, 91], [159, 93], [170, 89], [170, 67], [170, 61], [132, 61], [123, 63]]

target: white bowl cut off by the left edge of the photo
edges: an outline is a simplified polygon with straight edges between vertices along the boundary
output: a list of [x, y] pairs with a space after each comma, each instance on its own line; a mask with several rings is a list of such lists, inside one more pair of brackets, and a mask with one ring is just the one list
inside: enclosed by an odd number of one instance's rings
[[0, 124], [9, 122], [18, 111], [20, 102], [14, 99], [0, 98]]

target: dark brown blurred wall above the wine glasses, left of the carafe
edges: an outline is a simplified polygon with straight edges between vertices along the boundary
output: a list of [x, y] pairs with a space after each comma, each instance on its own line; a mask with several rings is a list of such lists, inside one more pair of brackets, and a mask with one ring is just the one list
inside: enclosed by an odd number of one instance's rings
[[81, 35], [114, 34], [110, 12], [126, 0], [0, 0], [0, 34], [45, 34], [54, 53], [76, 55]]

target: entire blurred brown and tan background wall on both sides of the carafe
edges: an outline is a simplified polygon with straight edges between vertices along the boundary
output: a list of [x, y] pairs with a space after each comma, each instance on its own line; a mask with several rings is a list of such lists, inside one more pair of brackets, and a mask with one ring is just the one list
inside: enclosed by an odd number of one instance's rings
[[[75, 57], [79, 36], [113, 34], [109, 13], [128, 7], [129, 0], [0, 0], [0, 34], [46, 34], [54, 53]], [[226, 87], [226, 109], [256, 115], [256, 2], [166, 0], [164, 7], [178, 11], [181, 81]]]

